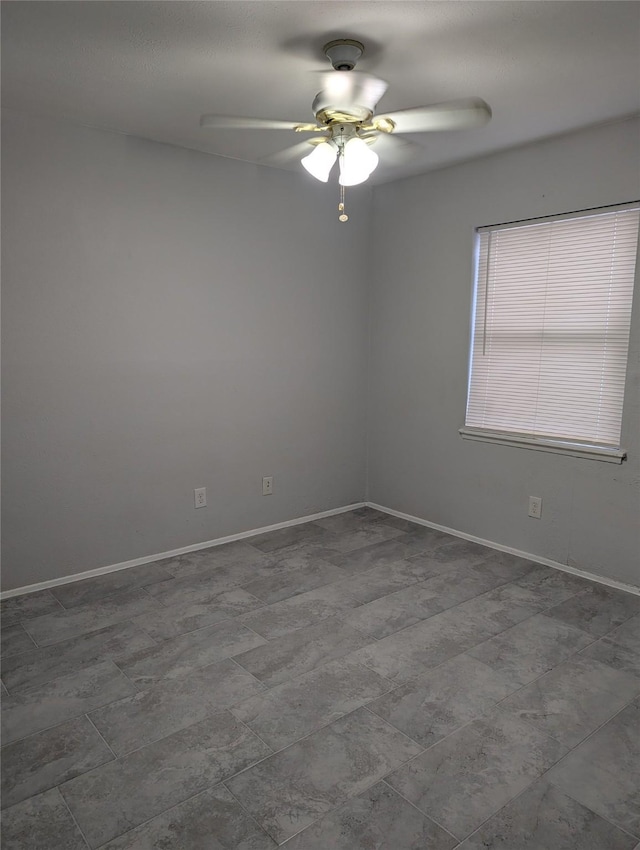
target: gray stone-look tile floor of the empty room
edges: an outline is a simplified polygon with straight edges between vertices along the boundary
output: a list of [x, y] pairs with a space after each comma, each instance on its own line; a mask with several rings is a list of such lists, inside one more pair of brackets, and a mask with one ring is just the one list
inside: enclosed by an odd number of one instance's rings
[[7, 850], [639, 850], [640, 597], [369, 509], [2, 603]]

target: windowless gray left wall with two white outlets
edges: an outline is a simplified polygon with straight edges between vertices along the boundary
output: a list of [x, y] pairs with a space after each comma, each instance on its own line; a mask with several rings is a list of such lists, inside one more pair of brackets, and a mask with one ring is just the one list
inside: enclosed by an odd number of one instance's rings
[[3, 145], [4, 589], [362, 499], [368, 187], [343, 225], [306, 175], [11, 112]]

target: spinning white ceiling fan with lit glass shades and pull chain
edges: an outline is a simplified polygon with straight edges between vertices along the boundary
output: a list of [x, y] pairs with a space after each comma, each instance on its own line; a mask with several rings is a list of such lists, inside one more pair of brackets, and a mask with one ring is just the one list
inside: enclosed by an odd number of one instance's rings
[[[491, 118], [489, 105], [477, 97], [376, 115], [376, 106], [387, 90], [387, 83], [354, 70], [364, 53], [364, 46], [359, 41], [343, 38], [330, 41], [323, 50], [334, 70], [321, 74], [322, 88], [311, 105], [315, 123], [203, 115], [200, 126], [321, 133], [265, 157], [261, 162], [284, 165], [304, 153], [306, 155], [301, 159], [303, 167], [317, 180], [326, 183], [337, 161], [340, 221], [349, 218], [345, 211], [345, 187], [364, 183], [378, 165], [379, 157], [372, 150], [373, 145], [382, 148], [380, 152], [386, 161], [397, 164], [419, 147], [414, 142], [398, 139], [395, 134], [470, 129], [486, 124]], [[309, 145], [313, 146], [311, 152], [308, 152]]]

